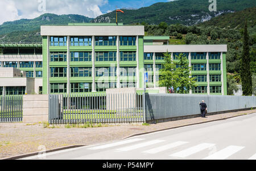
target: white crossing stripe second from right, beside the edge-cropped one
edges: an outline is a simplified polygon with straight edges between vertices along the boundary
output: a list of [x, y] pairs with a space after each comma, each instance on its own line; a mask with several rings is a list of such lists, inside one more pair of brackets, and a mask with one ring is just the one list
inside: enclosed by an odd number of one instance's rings
[[224, 160], [224, 159], [228, 158], [229, 156], [233, 155], [234, 153], [240, 151], [243, 148], [245, 148], [245, 147], [229, 146], [229, 147], [222, 149], [221, 151], [213, 153], [212, 155], [210, 155], [208, 157], [205, 157], [204, 160]]

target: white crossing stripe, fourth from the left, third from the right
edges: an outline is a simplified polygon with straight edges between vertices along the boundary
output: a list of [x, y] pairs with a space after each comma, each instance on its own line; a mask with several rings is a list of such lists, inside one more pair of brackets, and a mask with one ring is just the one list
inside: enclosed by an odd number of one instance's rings
[[193, 146], [191, 148], [184, 149], [183, 151], [176, 152], [176, 153], [174, 153], [172, 155], [169, 155], [169, 156], [184, 158], [184, 157], [193, 155], [193, 153], [197, 153], [197, 152], [203, 151], [204, 149], [210, 148], [212, 146], [215, 146], [215, 144], [202, 143], [202, 144], [199, 144], [197, 146]]

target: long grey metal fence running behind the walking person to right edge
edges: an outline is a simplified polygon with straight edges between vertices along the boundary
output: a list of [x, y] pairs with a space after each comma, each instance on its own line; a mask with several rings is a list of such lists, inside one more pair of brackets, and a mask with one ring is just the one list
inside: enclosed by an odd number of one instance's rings
[[146, 121], [200, 114], [199, 102], [208, 106], [208, 113], [256, 107], [254, 96], [175, 95], [146, 93]]

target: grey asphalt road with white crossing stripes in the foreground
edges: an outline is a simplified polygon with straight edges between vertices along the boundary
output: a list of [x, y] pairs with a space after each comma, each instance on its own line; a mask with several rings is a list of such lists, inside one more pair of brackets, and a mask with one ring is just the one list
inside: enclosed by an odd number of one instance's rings
[[256, 113], [24, 159], [255, 160]]

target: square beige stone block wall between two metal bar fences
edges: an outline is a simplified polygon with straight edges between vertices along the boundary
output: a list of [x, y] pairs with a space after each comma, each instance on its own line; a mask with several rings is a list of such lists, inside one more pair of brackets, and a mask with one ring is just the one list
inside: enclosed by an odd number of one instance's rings
[[48, 122], [49, 113], [48, 95], [23, 96], [23, 122]]

